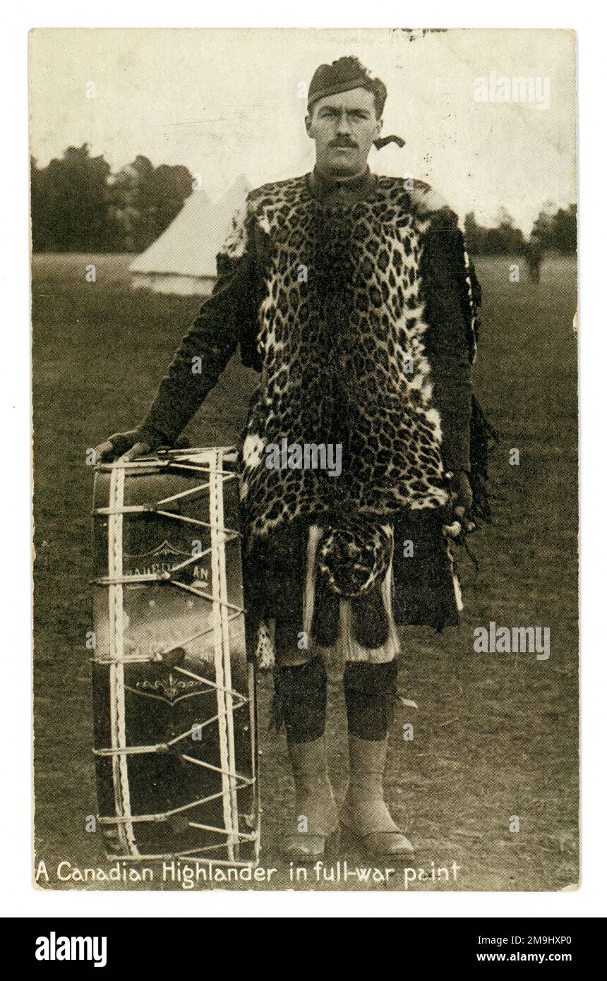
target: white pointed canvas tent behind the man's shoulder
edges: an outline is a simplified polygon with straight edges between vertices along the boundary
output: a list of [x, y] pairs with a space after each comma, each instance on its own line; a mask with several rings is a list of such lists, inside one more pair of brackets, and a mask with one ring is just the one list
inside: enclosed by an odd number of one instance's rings
[[169, 228], [130, 263], [133, 289], [208, 296], [217, 278], [217, 253], [248, 190], [241, 175], [215, 203], [204, 191], [192, 191]]

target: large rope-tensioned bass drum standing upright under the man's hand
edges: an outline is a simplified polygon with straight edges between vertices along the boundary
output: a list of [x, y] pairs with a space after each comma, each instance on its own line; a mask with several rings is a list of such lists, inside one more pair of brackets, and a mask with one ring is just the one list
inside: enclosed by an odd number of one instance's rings
[[94, 754], [112, 858], [259, 857], [233, 447], [97, 466]]

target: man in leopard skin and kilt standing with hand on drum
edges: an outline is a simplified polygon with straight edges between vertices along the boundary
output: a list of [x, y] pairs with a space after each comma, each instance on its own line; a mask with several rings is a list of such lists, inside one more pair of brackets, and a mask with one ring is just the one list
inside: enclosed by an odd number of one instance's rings
[[[354, 57], [317, 69], [305, 119], [313, 172], [249, 193], [146, 419], [98, 448], [133, 459], [173, 445], [238, 344], [261, 375], [241, 439], [247, 630], [259, 663], [276, 664], [295, 781], [284, 851], [298, 860], [322, 857], [339, 819], [372, 856], [413, 853], [382, 791], [396, 626], [459, 622], [443, 524], [453, 503], [459, 515], [473, 503], [478, 284], [446, 202], [421, 181], [370, 171], [374, 142], [403, 143], [379, 136], [385, 98]], [[338, 474], [323, 448], [340, 454]], [[340, 813], [329, 655], [343, 663], [348, 723]]]

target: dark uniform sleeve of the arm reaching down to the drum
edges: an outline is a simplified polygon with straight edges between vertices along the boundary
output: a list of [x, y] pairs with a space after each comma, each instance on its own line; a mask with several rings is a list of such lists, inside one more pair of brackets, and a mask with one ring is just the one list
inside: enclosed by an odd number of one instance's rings
[[[239, 341], [254, 330], [256, 284], [253, 236], [246, 206], [218, 255], [218, 278], [194, 323], [182, 338], [169, 373], [160, 384], [138, 439], [173, 445], [214, 388]], [[228, 248], [228, 243], [231, 246]], [[247, 339], [250, 345], [250, 340]]]

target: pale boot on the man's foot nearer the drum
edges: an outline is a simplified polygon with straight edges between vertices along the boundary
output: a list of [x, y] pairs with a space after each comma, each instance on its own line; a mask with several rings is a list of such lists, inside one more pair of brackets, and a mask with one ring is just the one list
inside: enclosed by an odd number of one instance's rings
[[325, 854], [327, 839], [338, 827], [326, 738], [287, 743], [287, 748], [295, 781], [295, 820], [285, 837], [283, 852], [298, 861], [316, 861]]

